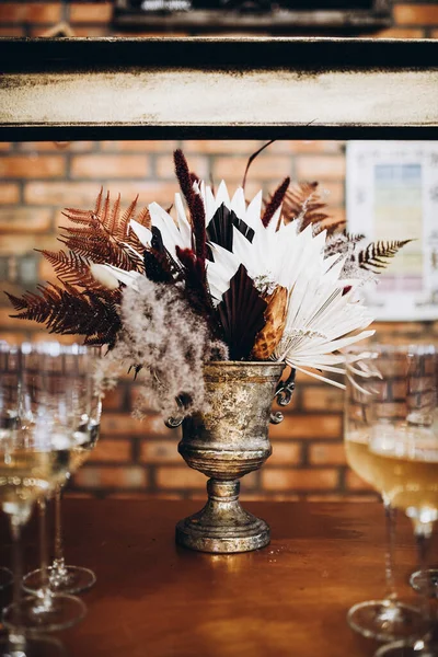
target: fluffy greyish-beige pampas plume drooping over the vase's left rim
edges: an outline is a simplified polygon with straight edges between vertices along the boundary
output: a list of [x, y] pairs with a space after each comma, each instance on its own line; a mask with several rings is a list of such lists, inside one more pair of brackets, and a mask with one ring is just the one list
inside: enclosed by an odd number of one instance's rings
[[[124, 330], [101, 362], [101, 384], [111, 387], [130, 364], [139, 385], [137, 417], [150, 408], [164, 419], [204, 412], [203, 364], [226, 360], [228, 350], [211, 338], [178, 288], [139, 277], [136, 288], [123, 290], [122, 321]], [[183, 408], [177, 399], [184, 400]]]

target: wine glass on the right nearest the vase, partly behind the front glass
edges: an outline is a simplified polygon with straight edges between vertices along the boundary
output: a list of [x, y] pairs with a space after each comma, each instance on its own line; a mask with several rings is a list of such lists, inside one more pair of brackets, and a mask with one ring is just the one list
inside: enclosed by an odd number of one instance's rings
[[[348, 465], [365, 482], [379, 491], [378, 469], [369, 451], [372, 402], [384, 388], [379, 371], [380, 347], [351, 348], [346, 351], [347, 384], [345, 396], [345, 453]], [[354, 604], [347, 613], [351, 630], [377, 641], [394, 641], [413, 636], [422, 625], [419, 611], [397, 598], [394, 579], [395, 509], [381, 491], [385, 517], [385, 584], [387, 595], [377, 600]]]

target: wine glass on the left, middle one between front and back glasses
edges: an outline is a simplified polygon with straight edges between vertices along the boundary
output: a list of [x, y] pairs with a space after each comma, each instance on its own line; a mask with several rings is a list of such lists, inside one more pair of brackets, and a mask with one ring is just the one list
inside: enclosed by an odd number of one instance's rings
[[[78, 442], [76, 428], [81, 422], [78, 388], [82, 381], [80, 366], [87, 358], [87, 349], [76, 345], [71, 347], [71, 355], [77, 367], [70, 364], [67, 370], [64, 347], [59, 343], [22, 346], [19, 430], [26, 440], [37, 447], [43, 446], [44, 457], [49, 461], [45, 494], [38, 496], [43, 586], [36, 591], [36, 597], [25, 598], [20, 603], [22, 623], [32, 631], [69, 627], [87, 611], [79, 598], [54, 595], [47, 573], [46, 499], [68, 476], [71, 453]], [[79, 439], [83, 438], [80, 436]], [[15, 615], [14, 604], [7, 608], [3, 611], [4, 625], [13, 629]]]

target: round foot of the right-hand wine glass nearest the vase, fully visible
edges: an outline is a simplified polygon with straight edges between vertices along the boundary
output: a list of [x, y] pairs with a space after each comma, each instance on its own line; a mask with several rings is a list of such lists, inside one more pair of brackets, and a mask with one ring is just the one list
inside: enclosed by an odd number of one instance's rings
[[347, 621], [358, 634], [383, 642], [415, 638], [424, 630], [418, 609], [390, 600], [359, 602], [348, 610]]

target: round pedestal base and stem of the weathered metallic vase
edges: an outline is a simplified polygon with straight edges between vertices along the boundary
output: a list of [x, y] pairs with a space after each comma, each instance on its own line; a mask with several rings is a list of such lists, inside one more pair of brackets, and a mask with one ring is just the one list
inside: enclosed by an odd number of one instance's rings
[[176, 543], [198, 552], [251, 552], [269, 543], [269, 526], [239, 503], [239, 481], [209, 480], [206, 506], [180, 520]]

